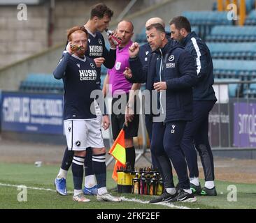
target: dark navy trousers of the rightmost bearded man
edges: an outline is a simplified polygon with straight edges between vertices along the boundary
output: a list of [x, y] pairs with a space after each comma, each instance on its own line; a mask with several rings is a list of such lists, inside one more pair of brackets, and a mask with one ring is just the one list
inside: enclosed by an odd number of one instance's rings
[[190, 178], [199, 176], [197, 166], [198, 151], [204, 168], [205, 180], [214, 180], [213, 153], [208, 141], [208, 117], [214, 104], [215, 100], [193, 102], [193, 120], [187, 122], [181, 142], [181, 148], [190, 171]]

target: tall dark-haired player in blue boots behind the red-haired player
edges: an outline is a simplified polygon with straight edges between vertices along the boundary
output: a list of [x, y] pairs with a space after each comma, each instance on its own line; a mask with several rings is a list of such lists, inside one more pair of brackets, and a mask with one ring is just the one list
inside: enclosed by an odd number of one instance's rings
[[[108, 38], [111, 45], [111, 49], [108, 51], [105, 46], [104, 37], [101, 34], [108, 27], [111, 17], [113, 17], [113, 11], [104, 3], [98, 3], [97, 5], [92, 6], [90, 20], [88, 20], [84, 25], [85, 29], [89, 33], [85, 56], [89, 56], [91, 59], [94, 59], [97, 66], [97, 75], [99, 76], [101, 74], [102, 64], [109, 69], [113, 68], [115, 65], [116, 46], [111, 38]], [[69, 47], [69, 45], [67, 45], [67, 47]], [[100, 89], [101, 79], [99, 78], [98, 80], [97, 87]], [[99, 108], [96, 109], [98, 121], [101, 122]], [[55, 186], [58, 194], [67, 195], [66, 175], [69, 167], [71, 166], [73, 154], [73, 151], [69, 151], [69, 149], [66, 148], [62, 160], [62, 166], [59, 169], [59, 174], [57, 174], [57, 177], [55, 178]], [[85, 157], [85, 187], [83, 192], [88, 195], [97, 195], [97, 182], [95, 180], [94, 169], [92, 167], [94, 164], [97, 164], [97, 161], [99, 161], [99, 159], [97, 159], [97, 157], [92, 157], [92, 150], [87, 148], [87, 154]]]

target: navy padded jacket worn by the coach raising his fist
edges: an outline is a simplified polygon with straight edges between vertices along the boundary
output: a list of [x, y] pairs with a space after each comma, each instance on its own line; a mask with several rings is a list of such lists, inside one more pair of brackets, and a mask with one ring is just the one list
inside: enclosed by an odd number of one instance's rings
[[180, 45], [173, 44], [172, 40], [169, 40], [162, 49], [150, 53], [148, 66], [142, 67], [138, 56], [130, 58], [133, 76], [129, 81], [145, 83], [146, 89], [154, 89], [156, 64], [159, 58], [162, 58], [161, 81], [167, 85], [165, 122], [192, 120], [192, 86], [197, 82], [197, 72], [192, 56]]

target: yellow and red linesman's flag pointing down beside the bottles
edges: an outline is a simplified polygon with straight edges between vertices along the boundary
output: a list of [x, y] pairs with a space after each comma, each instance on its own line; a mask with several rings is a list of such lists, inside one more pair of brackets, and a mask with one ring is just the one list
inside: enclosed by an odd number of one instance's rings
[[125, 155], [125, 130], [121, 130], [118, 137], [115, 139], [113, 146], [108, 152], [115, 158], [115, 167], [113, 169], [112, 178], [118, 181], [118, 169], [125, 168], [126, 155]]

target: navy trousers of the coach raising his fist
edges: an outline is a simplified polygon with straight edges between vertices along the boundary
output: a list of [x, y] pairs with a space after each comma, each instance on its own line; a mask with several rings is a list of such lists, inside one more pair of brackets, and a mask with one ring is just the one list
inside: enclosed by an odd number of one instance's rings
[[[186, 121], [153, 123], [151, 153], [155, 155], [157, 167], [164, 180], [164, 187], [174, 187], [171, 162], [178, 175], [180, 187], [190, 189], [187, 164], [180, 143], [183, 138]], [[170, 162], [171, 160], [171, 162]]]

